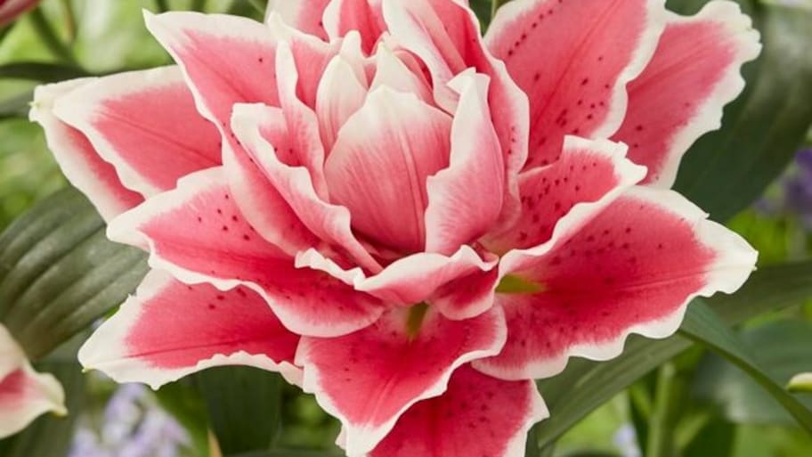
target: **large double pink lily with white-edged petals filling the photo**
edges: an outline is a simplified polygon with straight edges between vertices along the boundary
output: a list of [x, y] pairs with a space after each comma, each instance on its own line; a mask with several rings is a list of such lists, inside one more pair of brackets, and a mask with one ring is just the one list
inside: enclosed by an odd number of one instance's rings
[[81, 362], [153, 387], [280, 371], [351, 456], [520, 455], [532, 379], [669, 336], [756, 260], [668, 187], [758, 33], [662, 4], [516, 0], [484, 38], [462, 0], [148, 14], [177, 67], [32, 110], [154, 268]]

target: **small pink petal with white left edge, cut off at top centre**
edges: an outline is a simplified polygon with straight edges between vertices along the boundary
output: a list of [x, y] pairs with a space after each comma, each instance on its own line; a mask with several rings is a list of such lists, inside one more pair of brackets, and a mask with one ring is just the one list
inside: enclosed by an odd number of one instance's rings
[[363, 52], [369, 55], [386, 30], [381, 0], [333, 0], [324, 11], [324, 28], [330, 39], [357, 30]]

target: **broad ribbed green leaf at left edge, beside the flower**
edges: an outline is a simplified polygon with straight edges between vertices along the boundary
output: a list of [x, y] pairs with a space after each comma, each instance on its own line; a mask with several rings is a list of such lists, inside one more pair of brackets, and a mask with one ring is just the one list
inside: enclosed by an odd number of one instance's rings
[[31, 357], [85, 329], [141, 282], [145, 255], [104, 232], [102, 218], [71, 188], [0, 234], [0, 321]]

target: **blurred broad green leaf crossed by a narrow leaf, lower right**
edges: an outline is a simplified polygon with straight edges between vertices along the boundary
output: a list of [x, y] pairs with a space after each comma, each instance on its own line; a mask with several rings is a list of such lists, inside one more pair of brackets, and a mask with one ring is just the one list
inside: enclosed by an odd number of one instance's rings
[[[812, 323], [800, 320], [767, 322], [738, 334], [743, 347], [779, 386], [799, 371], [812, 371]], [[695, 396], [720, 407], [727, 420], [751, 424], [792, 424], [781, 404], [769, 396], [745, 372], [716, 355], [700, 363], [694, 384]], [[812, 408], [812, 398], [799, 396]]]

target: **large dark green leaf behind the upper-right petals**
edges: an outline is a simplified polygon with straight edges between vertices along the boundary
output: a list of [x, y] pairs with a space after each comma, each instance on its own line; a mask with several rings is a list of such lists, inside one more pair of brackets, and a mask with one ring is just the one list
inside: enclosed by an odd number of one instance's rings
[[[697, 2], [672, 2], [680, 3], [693, 9]], [[716, 220], [756, 200], [812, 124], [812, 11], [789, 3], [756, 4], [753, 14], [764, 50], [745, 67], [747, 86], [727, 106], [721, 129], [688, 151], [675, 186]]]

